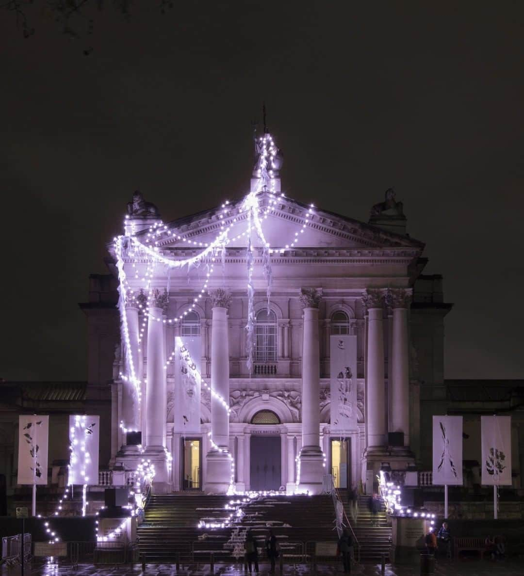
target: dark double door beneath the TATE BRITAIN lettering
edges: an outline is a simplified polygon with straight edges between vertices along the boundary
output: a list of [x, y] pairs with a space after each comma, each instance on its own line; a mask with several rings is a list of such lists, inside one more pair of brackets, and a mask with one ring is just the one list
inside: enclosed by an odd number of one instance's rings
[[278, 490], [280, 480], [280, 436], [251, 436], [251, 490]]

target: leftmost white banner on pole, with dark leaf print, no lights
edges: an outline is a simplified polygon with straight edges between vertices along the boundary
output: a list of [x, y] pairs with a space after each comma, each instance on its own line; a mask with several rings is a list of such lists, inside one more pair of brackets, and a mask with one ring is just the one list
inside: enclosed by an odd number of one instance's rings
[[49, 416], [18, 416], [18, 484], [47, 484]]

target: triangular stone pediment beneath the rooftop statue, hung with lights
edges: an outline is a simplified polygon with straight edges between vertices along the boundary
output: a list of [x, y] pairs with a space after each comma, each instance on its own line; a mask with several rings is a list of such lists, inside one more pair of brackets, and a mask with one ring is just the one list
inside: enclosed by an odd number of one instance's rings
[[[272, 248], [290, 246], [295, 238], [296, 248], [423, 248], [424, 244], [408, 236], [387, 232], [358, 220], [333, 214], [267, 192], [258, 195], [262, 209], [261, 223], [266, 240]], [[227, 212], [225, 211], [227, 210]], [[206, 210], [167, 223], [167, 229], [157, 238], [159, 249], [199, 247], [213, 242], [223, 226], [229, 226], [229, 248], [246, 247], [248, 217], [242, 210], [242, 200]], [[139, 233], [138, 237], [146, 234]], [[261, 245], [255, 230], [253, 243]]]

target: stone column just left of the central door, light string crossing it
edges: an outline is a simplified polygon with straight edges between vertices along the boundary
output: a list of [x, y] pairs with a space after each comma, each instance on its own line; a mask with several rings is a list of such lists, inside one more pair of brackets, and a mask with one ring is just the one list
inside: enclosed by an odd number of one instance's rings
[[[206, 459], [208, 474], [204, 490], [225, 494], [231, 484], [229, 453], [229, 333], [228, 306], [231, 294], [218, 288], [209, 291], [213, 303], [211, 326], [211, 437], [214, 442]], [[224, 405], [225, 403], [225, 405]]]

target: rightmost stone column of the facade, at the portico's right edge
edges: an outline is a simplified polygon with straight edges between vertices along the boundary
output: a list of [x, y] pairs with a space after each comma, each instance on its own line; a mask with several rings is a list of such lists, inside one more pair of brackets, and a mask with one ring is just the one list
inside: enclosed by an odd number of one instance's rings
[[393, 343], [391, 359], [391, 431], [404, 432], [404, 446], [409, 446], [409, 343], [408, 308], [412, 291], [390, 290], [393, 308]]

